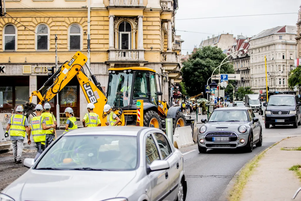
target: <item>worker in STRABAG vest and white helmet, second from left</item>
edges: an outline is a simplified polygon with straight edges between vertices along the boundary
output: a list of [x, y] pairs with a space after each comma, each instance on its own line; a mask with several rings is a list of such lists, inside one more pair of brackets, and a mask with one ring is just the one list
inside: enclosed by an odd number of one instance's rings
[[40, 104], [36, 105], [35, 110], [36, 110], [36, 116], [33, 117], [30, 121], [27, 143], [29, 145], [31, 144], [30, 134], [32, 132], [33, 140], [35, 141], [36, 147], [38, 149], [38, 153], [35, 157], [35, 161], [36, 161], [45, 149], [45, 141], [46, 141], [45, 130], [48, 130], [49, 128], [55, 128], [55, 124], [52, 124], [51, 126], [46, 126], [45, 117], [41, 116], [43, 110], [42, 105]]

